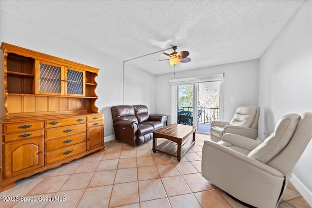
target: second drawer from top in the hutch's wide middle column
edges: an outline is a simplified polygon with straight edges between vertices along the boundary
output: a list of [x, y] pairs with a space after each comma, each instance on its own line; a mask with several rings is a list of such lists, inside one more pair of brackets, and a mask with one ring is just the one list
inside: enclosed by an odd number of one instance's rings
[[76, 124], [57, 128], [45, 129], [45, 139], [53, 139], [60, 136], [70, 136], [76, 133], [86, 132], [86, 124]]

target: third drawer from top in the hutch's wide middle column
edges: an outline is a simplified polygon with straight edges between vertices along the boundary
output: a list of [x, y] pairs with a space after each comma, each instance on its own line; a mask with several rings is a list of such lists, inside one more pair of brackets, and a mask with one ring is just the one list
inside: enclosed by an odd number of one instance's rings
[[58, 150], [86, 141], [86, 133], [79, 133], [72, 136], [65, 136], [58, 139], [49, 139], [45, 141], [45, 152]]

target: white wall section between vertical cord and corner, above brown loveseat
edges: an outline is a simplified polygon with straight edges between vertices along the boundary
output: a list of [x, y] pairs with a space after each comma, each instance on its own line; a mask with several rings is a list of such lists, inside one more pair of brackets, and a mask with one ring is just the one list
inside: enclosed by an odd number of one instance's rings
[[124, 64], [124, 104], [146, 105], [150, 114], [155, 113], [155, 75], [130, 62]]

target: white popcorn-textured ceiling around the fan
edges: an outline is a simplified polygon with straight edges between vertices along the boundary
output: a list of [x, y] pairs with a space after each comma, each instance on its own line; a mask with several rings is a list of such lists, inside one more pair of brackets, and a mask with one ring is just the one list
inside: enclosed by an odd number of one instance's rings
[[[176, 71], [261, 57], [303, 0], [1, 0], [1, 12], [122, 61], [172, 46], [192, 61]], [[1, 28], [5, 30], [5, 28]], [[164, 51], [171, 53], [173, 50]], [[129, 61], [173, 70], [162, 52]]]

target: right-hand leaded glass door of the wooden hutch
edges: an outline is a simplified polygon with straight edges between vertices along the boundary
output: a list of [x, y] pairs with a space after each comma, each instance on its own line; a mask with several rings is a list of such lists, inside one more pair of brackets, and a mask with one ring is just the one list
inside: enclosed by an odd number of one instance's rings
[[66, 93], [67, 95], [85, 95], [85, 72], [77, 69], [66, 70]]

